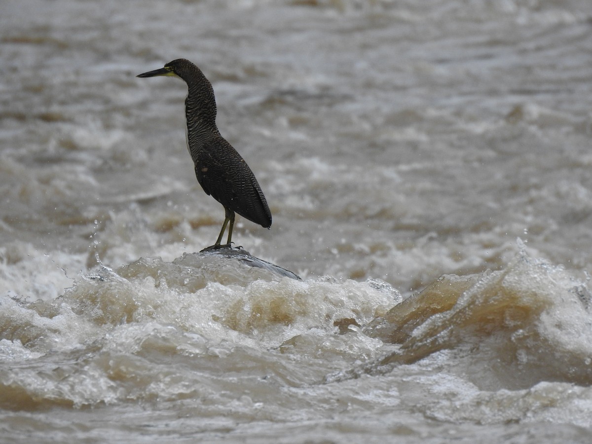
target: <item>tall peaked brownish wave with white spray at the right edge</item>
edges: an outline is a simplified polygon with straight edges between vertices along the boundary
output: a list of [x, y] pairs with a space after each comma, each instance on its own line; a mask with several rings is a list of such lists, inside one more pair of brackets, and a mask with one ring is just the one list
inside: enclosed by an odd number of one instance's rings
[[[388, 372], [448, 350], [480, 390], [542, 381], [592, 384], [590, 294], [562, 267], [525, 252], [501, 271], [445, 275], [364, 331], [400, 344], [365, 371]], [[446, 353], [444, 353], [446, 355]]]

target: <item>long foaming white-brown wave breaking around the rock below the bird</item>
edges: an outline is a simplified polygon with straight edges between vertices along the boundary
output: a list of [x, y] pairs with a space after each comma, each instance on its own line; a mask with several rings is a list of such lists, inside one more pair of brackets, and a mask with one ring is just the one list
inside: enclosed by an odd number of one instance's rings
[[[368, 323], [399, 300], [384, 282], [298, 281], [207, 253], [99, 268], [55, 300], [3, 297], [0, 405], [178, 399], [186, 395], [182, 387], [200, 384], [178, 387], [186, 372], [215, 377], [240, 372], [248, 361], [265, 363], [278, 378], [298, 379], [284, 375], [281, 356], [306, 350], [311, 341], [327, 341], [326, 352], [336, 356], [355, 355], [367, 346], [348, 350], [332, 339], [335, 324]], [[311, 331], [316, 335], [304, 339]], [[172, 363], [186, 368], [178, 372]], [[246, 371], [249, 377], [253, 372]]]

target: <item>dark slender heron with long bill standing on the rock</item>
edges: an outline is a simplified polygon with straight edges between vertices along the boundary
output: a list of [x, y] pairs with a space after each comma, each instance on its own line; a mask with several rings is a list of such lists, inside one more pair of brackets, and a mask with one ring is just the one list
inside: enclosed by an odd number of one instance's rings
[[[225, 218], [218, 239], [205, 250], [231, 247], [235, 213], [269, 229], [271, 211], [255, 174], [216, 126], [216, 101], [210, 81], [199, 67], [186, 59], [176, 59], [160, 69], [137, 75], [140, 78], [156, 76], [178, 77], [187, 83], [186, 141], [195, 176], [205, 193], [224, 207]], [[227, 226], [227, 242], [221, 244]]]

